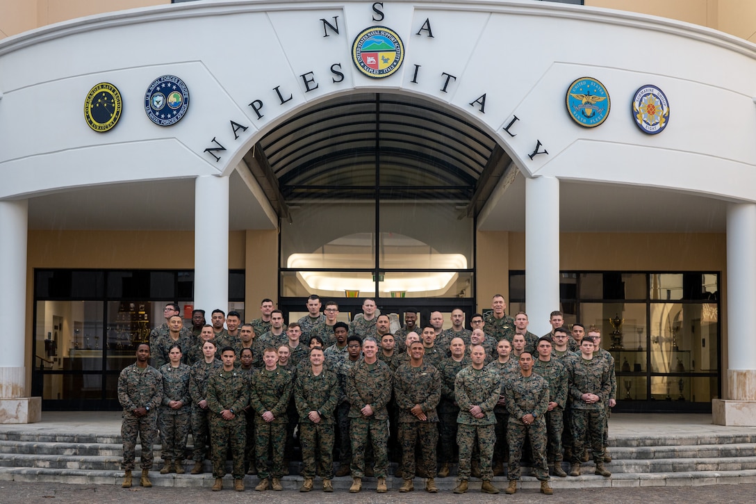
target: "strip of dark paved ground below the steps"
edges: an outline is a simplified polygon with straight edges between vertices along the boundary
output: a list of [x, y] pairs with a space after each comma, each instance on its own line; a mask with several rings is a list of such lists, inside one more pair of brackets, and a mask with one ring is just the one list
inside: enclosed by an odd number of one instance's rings
[[275, 499], [276, 504], [320, 504], [349, 502], [349, 504], [420, 504], [432, 502], [433, 504], [458, 504], [472, 503], [485, 504], [486, 502], [550, 502], [550, 504], [562, 504], [565, 502], [612, 502], [612, 504], [648, 504], [649, 502], [684, 502], [685, 504], [711, 504], [711, 502], [754, 502], [756, 484], [720, 485], [710, 487], [640, 487], [640, 488], [591, 488], [587, 490], [557, 490], [553, 496], [544, 496], [538, 490], [520, 490], [513, 496], [484, 495], [477, 491], [471, 491], [464, 495], [454, 495], [451, 492], [428, 493], [415, 490], [412, 493], [397, 493], [392, 491], [385, 494], [363, 491], [352, 494], [344, 490], [335, 493], [299, 493], [294, 491], [258, 493], [248, 489], [246, 492], [234, 492], [223, 490], [212, 492], [209, 489], [191, 488], [179, 490], [177, 488], [154, 487], [154, 488], [131, 488], [122, 489], [114, 485], [75, 485], [75, 484], [48, 484], [48, 483], [16, 483], [14, 481], [0, 482], [0, 502], [13, 504], [36, 504], [45, 502], [48, 504], [85, 504], [88, 502], [119, 502], [130, 504], [131, 502], [178, 502], [181, 504], [213, 504], [215, 502], [228, 504], [233, 502], [250, 502], [250, 499]]

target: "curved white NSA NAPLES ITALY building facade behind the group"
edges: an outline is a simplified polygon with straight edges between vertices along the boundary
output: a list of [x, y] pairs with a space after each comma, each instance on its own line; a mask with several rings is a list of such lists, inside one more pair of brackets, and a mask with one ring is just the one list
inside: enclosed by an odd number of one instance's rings
[[361, 297], [469, 316], [500, 293], [537, 334], [552, 310], [603, 328], [625, 410], [743, 422], [756, 16], [522, 0], [72, 19], [98, 3], [3, 7], [9, 420], [40, 397], [113, 406], [169, 301], [187, 319], [253, 319], [264, 297], [296, 319], [312, 293], [347, 318]]

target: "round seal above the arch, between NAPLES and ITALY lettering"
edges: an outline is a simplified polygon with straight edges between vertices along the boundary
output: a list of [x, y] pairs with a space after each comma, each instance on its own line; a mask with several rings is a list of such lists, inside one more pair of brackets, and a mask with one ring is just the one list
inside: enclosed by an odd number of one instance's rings
[[363, 30], [355, 39], [352, 61], [368, 77], [388, 77], [404, 61], [404, 44], [394, 30], [373, 26]]

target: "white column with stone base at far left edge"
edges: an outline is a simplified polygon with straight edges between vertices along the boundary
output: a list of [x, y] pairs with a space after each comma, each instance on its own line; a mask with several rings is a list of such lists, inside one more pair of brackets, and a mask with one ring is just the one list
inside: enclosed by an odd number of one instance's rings
[[[0, 201], [0, 423], [39, 422], [42, 400], [26, 395], [26, 200]], [[29, 358], [29, 362], [31, 359]]]

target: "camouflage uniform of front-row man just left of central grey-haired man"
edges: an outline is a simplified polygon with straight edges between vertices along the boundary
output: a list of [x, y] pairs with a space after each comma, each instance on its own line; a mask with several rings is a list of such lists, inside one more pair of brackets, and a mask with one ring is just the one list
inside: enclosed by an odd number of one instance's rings
[[[294, 381], [294, 401], [299, 412], [299, 440], [302, 443], [302, 476], [314, 478], [316, 461], [320, 459], [320, 474], [324, 480], [333, 479], [333, 429], [336, 403], [339, 401], [339, 378], [323, 367], [318, 375], [312, 365], [302, 366]], [[318, 422], [310, 418], [317, 412]]]

